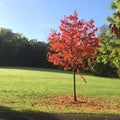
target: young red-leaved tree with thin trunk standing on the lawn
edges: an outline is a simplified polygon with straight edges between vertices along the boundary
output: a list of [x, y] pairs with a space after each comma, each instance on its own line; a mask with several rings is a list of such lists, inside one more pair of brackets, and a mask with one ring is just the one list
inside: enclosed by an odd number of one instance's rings
[[75, 72], [86, 82], [80, 70], [88, 69], [85, 60], [92, 59], [99, 47], [100, 40], [95, 35], [97, 28], [93, 23], [93, 19], [89, 22], [79, 20], [75, 11], [74, 15], [65, 16], [64, 20], [61, 20], [60, 32], [51, 30], [48, 37], [50, 46], [48, 61], [63, 66], [64, 70], [74, 71], [74, 101], [77, 101]]

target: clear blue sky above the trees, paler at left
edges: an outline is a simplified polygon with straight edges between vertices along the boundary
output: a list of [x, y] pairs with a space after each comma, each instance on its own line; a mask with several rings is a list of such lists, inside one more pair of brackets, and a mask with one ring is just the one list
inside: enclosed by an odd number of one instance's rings
[[0, 0], [0, 27], [11, 29], [30, 39], [47, 42], [51, 29], [59, 30], [60, 20], [73, 15], [94, 19], [95, 26], [109, 24], [113, 0]]

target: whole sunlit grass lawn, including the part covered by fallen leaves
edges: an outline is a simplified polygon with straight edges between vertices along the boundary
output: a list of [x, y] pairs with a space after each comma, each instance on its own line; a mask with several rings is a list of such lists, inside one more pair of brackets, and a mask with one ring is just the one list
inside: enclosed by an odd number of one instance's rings
[[83, 76], [88, 83], [76, 75], [78, 102], [73, 102], [71, 72], [0, 68], [0, 106], [28, 112], [120, 114], [120, 79]]

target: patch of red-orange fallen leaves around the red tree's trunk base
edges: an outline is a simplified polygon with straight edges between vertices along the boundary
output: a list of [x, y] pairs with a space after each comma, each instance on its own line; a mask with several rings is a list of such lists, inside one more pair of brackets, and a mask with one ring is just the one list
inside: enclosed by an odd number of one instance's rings
[[[41, 102], [42, 101], [42, 102]], [[42, 97], [38, 104], [40, 110], [54, 113], [109, 113], [119, 114], [120, 103], [101, 98], [77, 97], [77, 102], [73, 101], [73, 96], [47, 96]], [[37, 107], [36, 106], [36, 107]]]

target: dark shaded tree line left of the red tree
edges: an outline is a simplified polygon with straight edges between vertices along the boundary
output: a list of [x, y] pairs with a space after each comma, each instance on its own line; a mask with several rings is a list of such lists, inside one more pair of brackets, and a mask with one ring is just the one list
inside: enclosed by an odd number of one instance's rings
[[50, 67], [46, 59], [48, 44], [28, 40], [12, 30], [0, 28], [0, 65]]

